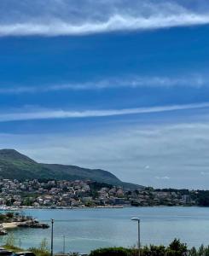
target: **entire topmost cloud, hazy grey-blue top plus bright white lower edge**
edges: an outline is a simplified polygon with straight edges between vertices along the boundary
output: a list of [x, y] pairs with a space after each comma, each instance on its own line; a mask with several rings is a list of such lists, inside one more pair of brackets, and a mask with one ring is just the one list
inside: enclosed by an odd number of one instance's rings
[[0, 3], [0, 15], [5, 13], [0, 36], [73, 36], [209, 24], [206, 9], [191, 9], [178, 1], [22, 2], [14, 3], [14, 9], [12, 4]]

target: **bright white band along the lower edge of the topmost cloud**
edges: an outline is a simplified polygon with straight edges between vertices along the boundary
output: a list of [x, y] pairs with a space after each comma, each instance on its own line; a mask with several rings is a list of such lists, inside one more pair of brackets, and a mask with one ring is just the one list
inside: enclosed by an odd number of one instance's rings
[[0, 26], [0, 36], [61, 36], [85, 35], [114, 31], [134, 31], [160, 29], [174, 26], [198, 26], [209, 24], [209, 16], [183, 14], [168, 17], [152, 16], [136, 18], [131, 16], [114, 15], [106, 21], [86, 22], [73, 25], [61, 20], [50, 21], [49, 24], [15, 23]]

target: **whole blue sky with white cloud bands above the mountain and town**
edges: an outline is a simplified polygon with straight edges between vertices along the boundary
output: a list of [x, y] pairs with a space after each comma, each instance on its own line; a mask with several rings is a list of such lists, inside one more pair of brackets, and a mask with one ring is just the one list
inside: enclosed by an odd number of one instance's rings
[[1, 0], [0, 148], [209, 189], [207, 0]]

